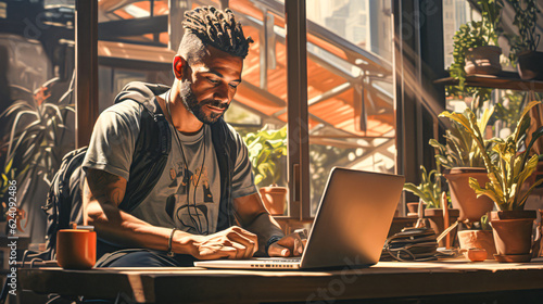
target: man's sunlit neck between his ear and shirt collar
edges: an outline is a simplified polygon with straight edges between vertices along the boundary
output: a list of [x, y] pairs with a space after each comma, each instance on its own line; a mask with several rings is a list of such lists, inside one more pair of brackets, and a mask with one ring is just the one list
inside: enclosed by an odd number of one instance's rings
[[[169, 100], [168, 100], [169, 93]], [[197, 134], [203, 126], [194, 114], [185, 107], [182, 100], [178, 93], [169, 91], [157, 96], [159, 104], [162, 112], [165, 114], [166, 119], [180, 132], [185, 135]], [[167, 104], [169, 102], [169, 105]], [[169, 107], [169, 111], [168, 111]]]

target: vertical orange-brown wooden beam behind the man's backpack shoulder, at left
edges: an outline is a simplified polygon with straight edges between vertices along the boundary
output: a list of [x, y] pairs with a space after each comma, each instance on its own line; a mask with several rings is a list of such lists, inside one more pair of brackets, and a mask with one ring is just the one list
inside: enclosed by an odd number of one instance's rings
[[77, 0], [75, 13], [76, 148], [87, 145], [98, 118], [98, 1]]

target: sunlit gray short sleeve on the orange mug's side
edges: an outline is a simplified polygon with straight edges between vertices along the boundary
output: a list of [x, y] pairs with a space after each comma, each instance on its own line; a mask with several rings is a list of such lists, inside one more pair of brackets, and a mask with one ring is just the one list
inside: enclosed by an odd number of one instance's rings
[[102, 112], [90, 138], [84, 169], [102, 169], [128, 180], [140, 116], [140, 105], [132, 101], [124, 101]]

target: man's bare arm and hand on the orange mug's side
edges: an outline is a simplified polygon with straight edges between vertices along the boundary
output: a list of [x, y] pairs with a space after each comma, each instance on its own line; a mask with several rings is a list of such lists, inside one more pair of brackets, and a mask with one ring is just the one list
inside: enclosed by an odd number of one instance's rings
[[[121, 245], [167, 251], [172, 228], [156, 227], [118, 208], [126, 191], [126, 179], [100, 169], [88, 169], [84, 187], [86, 225], [94, 226], [105, 240]], [[251, 256], [256, 236], [231, 227], [210, 236], [176, 230], [172, 249], [197, 258], [241, 258]]]

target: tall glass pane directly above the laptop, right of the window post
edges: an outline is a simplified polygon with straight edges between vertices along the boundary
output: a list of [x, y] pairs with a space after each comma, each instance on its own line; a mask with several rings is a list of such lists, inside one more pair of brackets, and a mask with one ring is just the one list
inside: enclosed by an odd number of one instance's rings
[[307, 1], [312, 214], [333, 166], [393, 173], [391, 2]]

